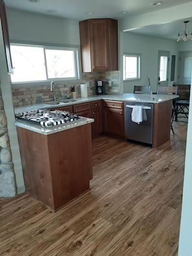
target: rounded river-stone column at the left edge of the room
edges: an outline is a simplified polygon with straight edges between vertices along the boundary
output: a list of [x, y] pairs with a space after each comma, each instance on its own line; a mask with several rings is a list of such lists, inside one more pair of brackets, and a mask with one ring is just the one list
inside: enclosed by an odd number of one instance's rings
[[16, 195], [14, 164], [8, 137], [6, 115], [0, 88], [0, 197]]

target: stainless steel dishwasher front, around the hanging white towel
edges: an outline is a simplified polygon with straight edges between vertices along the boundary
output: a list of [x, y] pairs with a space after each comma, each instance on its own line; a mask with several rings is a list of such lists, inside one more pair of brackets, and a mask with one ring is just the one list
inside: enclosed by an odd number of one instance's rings
[[[138, 103], [125, 101], [125, 138], [145, 144], [152, 144], [153, 134], [153, 103]], [[133, 106], [142, 106], [142, 115], [145, 117], [142, 122], [132, 121], [131, 113]]]

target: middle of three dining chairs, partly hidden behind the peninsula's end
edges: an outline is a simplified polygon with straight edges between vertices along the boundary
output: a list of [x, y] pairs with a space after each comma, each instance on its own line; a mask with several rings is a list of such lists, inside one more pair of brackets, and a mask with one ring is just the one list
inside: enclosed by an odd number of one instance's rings
[[[164, 95], [173, 95], [178, 94], [178, 87], [177, 86], [158, 86], [157, 87], [157, 94], [164, 94]], [[172, 109], [171, 109], [171, 131], [174, 134], [173, 130], [173, 120], [176, 114], [176, 99], [172, 101]]]

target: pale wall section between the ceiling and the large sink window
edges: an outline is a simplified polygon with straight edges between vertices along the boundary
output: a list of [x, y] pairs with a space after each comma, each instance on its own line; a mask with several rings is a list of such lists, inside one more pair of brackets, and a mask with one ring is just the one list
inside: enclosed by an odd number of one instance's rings
[[80, 45], [78, 21], [6, 10], [10, 40]]

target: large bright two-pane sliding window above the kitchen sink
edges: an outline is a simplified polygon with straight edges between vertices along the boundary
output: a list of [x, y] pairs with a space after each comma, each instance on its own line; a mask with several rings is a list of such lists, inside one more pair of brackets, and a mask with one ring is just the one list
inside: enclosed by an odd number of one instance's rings
[[12, 83], [78, 80], [78, 48], [11, 44]]

